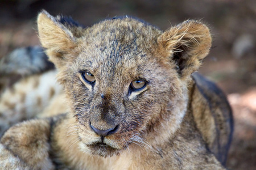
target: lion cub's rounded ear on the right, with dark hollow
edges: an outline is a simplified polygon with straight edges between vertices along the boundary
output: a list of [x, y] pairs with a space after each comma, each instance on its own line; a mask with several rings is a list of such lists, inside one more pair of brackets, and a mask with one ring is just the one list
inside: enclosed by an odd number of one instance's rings
[[187, 79], [199, 69], [212, 45], [208, 27], [195, 20], [187, 20], [171, 27], [157, 41], [159, 53], [164, 58], [171, 57], [181, 79]]

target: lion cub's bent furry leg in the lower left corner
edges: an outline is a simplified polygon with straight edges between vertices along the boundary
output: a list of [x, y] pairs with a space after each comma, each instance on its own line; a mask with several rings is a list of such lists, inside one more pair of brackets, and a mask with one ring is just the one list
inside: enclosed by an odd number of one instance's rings
[[50, 119], [30, 120], [11, 127], [0, 141], [3, 169], [54, 169], [49, 159]]

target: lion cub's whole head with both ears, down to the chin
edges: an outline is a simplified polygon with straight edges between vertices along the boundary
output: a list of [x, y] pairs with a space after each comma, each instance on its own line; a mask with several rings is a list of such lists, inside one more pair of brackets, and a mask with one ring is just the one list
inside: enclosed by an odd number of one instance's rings
[[82, 28], [43, 11], [38, 28], [81, 150], [100, 156], [170, 138], [186, 111], [189, 76], [210, 48], [208, 28], [195, 21], [163, 33], [127, 17]]

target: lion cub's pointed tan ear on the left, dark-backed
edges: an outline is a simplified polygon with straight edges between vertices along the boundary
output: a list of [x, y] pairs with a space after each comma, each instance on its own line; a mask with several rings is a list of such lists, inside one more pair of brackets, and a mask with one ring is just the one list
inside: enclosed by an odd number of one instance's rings
[[40, 42], [47, 49], [46, 53], [56, 67], [65, 65], [68, 59], [75, 56], [71, 53], [77, 46], [77, 38], [81, 36], [79, 29], [82, 27], [71, 18], [53, 17], [45, 10], [38, 15]]

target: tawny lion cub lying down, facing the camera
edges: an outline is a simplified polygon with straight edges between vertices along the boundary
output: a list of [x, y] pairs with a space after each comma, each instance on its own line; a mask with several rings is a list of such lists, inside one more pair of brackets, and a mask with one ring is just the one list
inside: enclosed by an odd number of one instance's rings
[[229, 104], [192, 74], [209, 53], [207, 26], [187, 20], [163, 32], [125, 16], [84, 28], [42, 11], [38, 31], [65, 100], [5, 132], [0, 167], [225, 169]]

